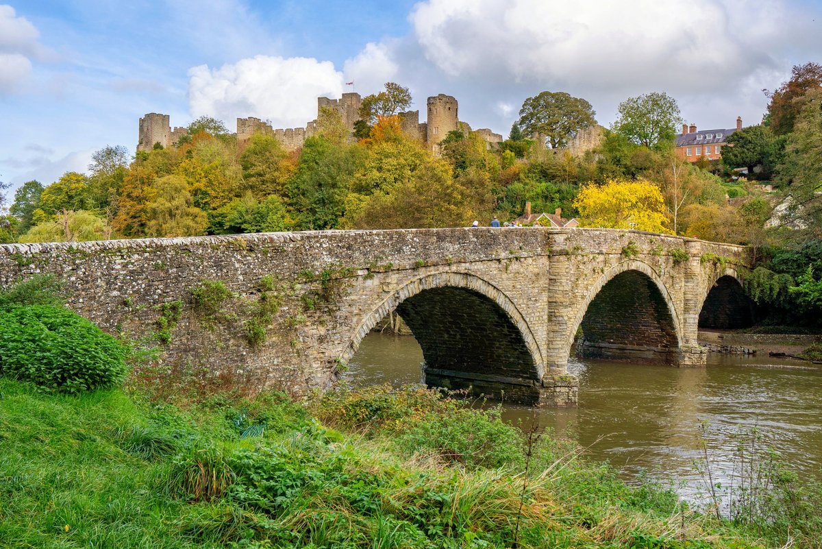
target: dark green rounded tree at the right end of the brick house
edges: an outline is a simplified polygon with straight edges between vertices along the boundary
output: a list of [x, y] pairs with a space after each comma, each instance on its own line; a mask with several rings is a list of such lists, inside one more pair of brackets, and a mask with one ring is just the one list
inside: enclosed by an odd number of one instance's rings
[[753, 177], [754, 168], [762, 167], [761, 177], [770, 179], [782, 161], [785, 138], [774, 136], [764, 126], [744, 127], [727, 137], [728, 145], [722, 149], [722, 161], [728, 168], [747, 168]]

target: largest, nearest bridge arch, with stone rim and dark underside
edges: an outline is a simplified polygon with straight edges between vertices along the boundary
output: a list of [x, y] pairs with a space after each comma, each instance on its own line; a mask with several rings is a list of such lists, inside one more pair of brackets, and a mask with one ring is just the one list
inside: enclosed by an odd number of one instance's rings
[[459, 272], [428, 274], [397, 288], [363, 319], [341, 357], [390, 311], [409, 326], [425, 359], [423, 381], [506, 400], [535, 402], [545, 370], [528, 323], [505, 293]]

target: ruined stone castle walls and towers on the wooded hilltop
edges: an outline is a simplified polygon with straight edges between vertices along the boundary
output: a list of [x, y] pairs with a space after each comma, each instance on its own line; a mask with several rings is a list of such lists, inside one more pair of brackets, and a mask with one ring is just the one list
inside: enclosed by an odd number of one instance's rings
[[[360, 107], [363, 98], [357, 93], [343, 94], [340, 99], [329, 99], [318, 97], [317, 116], [319, 117], [322, 108], [332, 108], [339, 113], [340, 118], [350, 134], [353, 135], [354, 122], [360, 119]], [[460, 122], [457, 109], [457, 100], [445, 94], [436, 95], [427, 99], [427, 122], [419, 122], [419, 111], [408, 111], [399, 113], [402, 120], [403, 131], [413, 139], [423, 142], [423, 144], [433, 152], [439, 152], [440, 141], [446, 138], [449, 131], [461, 129], [471, 131], [471, 127]], [[297, 150], [307, 138], [313, 136], [317, 131], [316, 119], [307, 122], [306, 127], [294, 127], [286, 129], [275, 129], [269, 122], [260, 118], [238, 118], [237, 119], [237, 141], [243, 145], [249, 141], [256, 133], [266, 133], [275, 136], [282, 142], [286, 150]], [[500, 143], [502, 136], [494, 133], [488, 128], [477, 130], [479, 136], [491, 146], [493, 143]], [[156, 144], [163, 147], [173, 146], [182, 136], [186, 136], [188, 131], [184, 127], [171, 128], [168, 114], [148, 113], [140, 119], [139, 139], [137, 150], [151, 150]]]

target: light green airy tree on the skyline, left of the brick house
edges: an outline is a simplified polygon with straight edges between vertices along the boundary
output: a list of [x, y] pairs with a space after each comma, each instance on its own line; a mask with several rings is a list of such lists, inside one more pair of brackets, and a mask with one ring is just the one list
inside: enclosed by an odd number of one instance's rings
[[664, 92], [629, 97], [619, 104], [617, 112], [619, 117], [612, 129], [646, 147], [672, 141], [682, 122], [677, 100]]

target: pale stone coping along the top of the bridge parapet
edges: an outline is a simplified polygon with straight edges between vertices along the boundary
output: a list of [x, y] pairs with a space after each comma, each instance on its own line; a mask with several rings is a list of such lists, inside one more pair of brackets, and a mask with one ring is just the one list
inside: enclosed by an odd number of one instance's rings
[[637, 234], [643, 237], [652, 237], [666, 239], [668, 241], [682, 242], [700, 242], [704, 245], [727, 247], [734, 251], [743, 252], [750, 247], [741, 246], [738, 244], [727, 244], [724, 242], [710, 242], [707, 240], [700, 240], [696, 238], [680, 237], [672, 234], [650, 233], [647, 231], [625, 230], [619, 228], [547, 228], [547, 227], [457, 227], [457, 228], [391, 228], [391, 229], [329, 229], [323, 231], [291, 231], [282, 233], [240, 233], [240, 234], [221, 234], [221, 235], [207, 235], [197, 237], [173, 237], [173, 238], [128, 238], [117, 240], [94, 240], [86, 242], [37, 242], [37, 243], [10, 243], [0, 244], [0, 250], [7, 255], [15, 254], [32, 254], [48, 251], [104, 251], [104, 250], [139, 250], [142, 248], [158, 248], [158, 247], [185, 247], [185, 246], [208, 246], [208, 245], [237, 245], [238, 242], [244, 242], [247, 245], [254, 244], [271, 244], [277, 242], [294, 242], [304, 238], [322, 238], [330, 235], [344, 235], [344, 234], [390, 234], [390, 233], [407, 233], [409, 235], [418, 234], [447, 234], [459, 233], [468, 231], [474, 233], [477, 231], [483, 233], [501, 232], [541, 232], [551, 234], [589, 234], [604, 233], [604, 234]]

